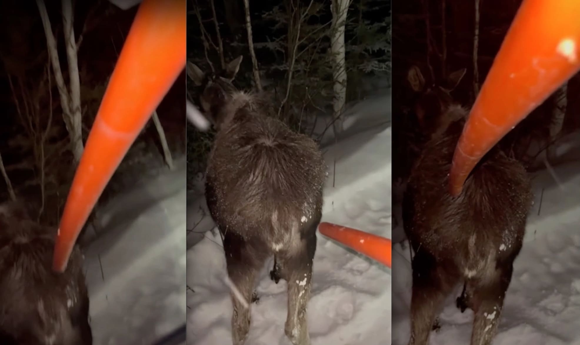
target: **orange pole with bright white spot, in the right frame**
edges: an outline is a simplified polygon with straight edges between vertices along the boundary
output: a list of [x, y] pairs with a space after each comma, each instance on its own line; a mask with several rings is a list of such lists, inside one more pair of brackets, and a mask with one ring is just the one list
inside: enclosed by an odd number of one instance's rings
[[451, 194], [503, 136], [580, 70], [580, 1], [524, 0], [456, 147]]

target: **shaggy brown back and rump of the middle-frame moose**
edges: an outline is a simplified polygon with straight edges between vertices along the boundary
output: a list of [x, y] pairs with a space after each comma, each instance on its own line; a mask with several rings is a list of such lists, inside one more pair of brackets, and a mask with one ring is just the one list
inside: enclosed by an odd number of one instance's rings
[[213, 194], [220, 213], [228, 215], [227, 226], [240, 231], [240, 223], [269, 224], [275, 232], [278, 224], [298, 227], [321, 208], [326, 165], [320, 150], [259, 107], [236, 112], [216, 135], [208, 162], [207, 179], [210, 188], [219, 188]]

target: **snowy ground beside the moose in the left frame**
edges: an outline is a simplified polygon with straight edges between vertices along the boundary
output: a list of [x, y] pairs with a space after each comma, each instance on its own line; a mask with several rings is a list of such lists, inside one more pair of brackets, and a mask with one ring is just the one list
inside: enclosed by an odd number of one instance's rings
[[100, 210], [106, 232], [85, 249], [95, 345], [185, 343], [171, 334], [186, 319], [185, 183], [182, 158]]

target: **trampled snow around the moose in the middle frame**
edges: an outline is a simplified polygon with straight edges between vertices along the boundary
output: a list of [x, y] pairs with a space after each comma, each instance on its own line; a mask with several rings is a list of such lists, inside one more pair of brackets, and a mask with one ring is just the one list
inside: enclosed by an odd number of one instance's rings
[[[376, 107], [377, 99], [367, 107], [359, 104], [346, 118], [345, 135], [322, 149], [329, 167], [322, 221], [391, 238], [390, 91], [386, 94], [382, 107]], [[188, 203], [187, 343], [231, 344], [221, 239], [209, 231], [214, 224], [202, 188], [188, 195]], [[284, 335], [286, 282], [270, 280], [272, 264], [259, 277], [247, 344], [291, 344]], [[390, 344], [390, 269], [318, 234], [308, 320], [313, 345]]]

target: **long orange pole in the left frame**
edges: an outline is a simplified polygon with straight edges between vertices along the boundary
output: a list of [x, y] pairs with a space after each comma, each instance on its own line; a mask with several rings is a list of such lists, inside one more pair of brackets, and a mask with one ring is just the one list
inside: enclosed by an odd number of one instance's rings
[[53, 268], [67, 267], [104, 187], [186, 62], [186, 0], [144, 0], [111, 75], [68, 193]]

